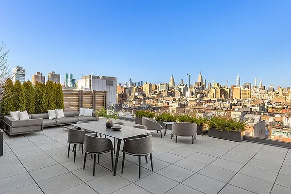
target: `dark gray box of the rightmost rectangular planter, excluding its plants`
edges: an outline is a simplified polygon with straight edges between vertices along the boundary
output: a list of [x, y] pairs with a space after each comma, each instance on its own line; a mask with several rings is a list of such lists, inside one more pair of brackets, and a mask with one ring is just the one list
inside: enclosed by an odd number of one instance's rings
[[214, 128], [208, 129], [208, 136], [215, 137], [235, 142], [242, 142], [243, 140], [243, 131], [219, 131]]

